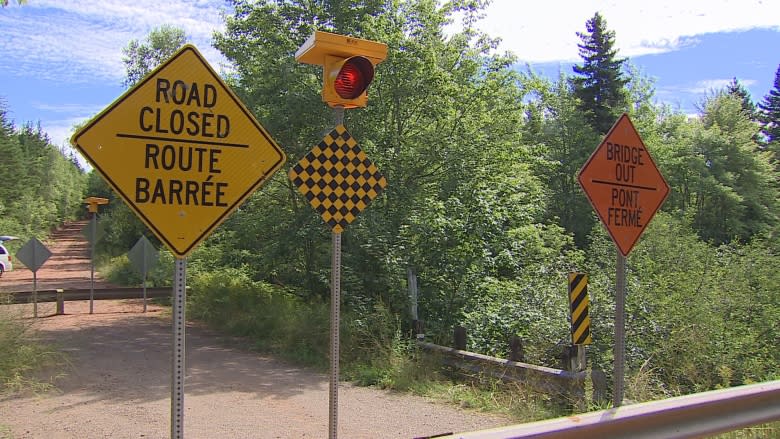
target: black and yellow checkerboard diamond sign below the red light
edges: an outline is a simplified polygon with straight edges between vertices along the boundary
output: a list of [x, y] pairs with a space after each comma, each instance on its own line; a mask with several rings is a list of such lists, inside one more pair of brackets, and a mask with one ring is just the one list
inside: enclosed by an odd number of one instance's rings
[[288, 175], [333, 233], [341, 233], [387, 187], [344, 125], [328, 133]]

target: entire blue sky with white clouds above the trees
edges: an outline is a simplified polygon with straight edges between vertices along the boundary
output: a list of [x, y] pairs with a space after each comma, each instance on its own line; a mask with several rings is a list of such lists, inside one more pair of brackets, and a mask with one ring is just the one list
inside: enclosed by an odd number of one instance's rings
[[[185, 30], [220, 71], [211, 48], [223, 0], [28, 0], [0, 9], [0, 99], [21, 125], [40, 123], [66, 145], [83, 123], [123, 92], [122, 48], [162, 24]], [[576, 32], [600, 11], [619, 55], [655, 79], [656, 100], [695, 113], [705, 93], [737, 77], [758, 101], [780, 64], [777, 0], [495, 0], [479, 27], [502, 39], [520, 68], [557, 77], [579, 61]]]

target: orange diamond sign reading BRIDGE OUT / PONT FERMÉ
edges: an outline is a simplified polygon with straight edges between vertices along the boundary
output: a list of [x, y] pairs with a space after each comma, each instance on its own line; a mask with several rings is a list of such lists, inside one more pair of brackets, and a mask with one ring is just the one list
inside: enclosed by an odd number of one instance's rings
[[627, 114], [609, 130], [578, 180], [623, 256], [669, 195], [669, 185]]

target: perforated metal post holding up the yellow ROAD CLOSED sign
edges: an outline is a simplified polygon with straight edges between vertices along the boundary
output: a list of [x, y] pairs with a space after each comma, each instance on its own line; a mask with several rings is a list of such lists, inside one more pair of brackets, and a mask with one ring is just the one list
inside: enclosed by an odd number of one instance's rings
[[184, 309], [187, 259], [176, 258], [173, 273], [173, 363], [171, 380], [171, 439], [184, 437]]

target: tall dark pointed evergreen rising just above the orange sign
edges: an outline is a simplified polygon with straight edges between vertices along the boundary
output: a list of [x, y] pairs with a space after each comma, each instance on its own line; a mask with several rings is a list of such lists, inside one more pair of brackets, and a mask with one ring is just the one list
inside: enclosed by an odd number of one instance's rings
[[628, 79], [623, 76], [625, 58], [617, 58], [615, 32], [607, 29], [607, 21], [596, 12], [585, 23], [587, 32], [577, 32], [582, 41], [580, 57], [583, 64], [574, 66], [575, 94], [580, 99], [582, 110], [590, 125], [604, 134], [612, 127], [626, 105], [624, 86]]

